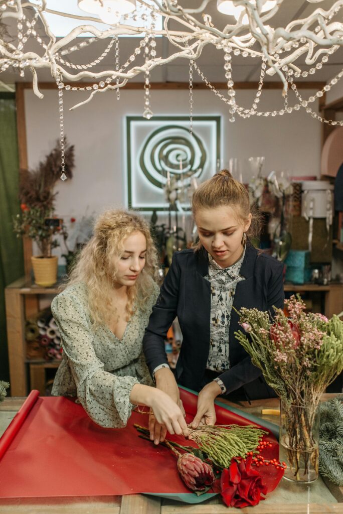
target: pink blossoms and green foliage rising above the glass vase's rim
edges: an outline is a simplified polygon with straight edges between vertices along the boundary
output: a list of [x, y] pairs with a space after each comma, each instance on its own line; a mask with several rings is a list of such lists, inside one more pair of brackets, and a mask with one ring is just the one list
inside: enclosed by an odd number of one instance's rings
[[242, 308], [240, 323], [247, 332], [236, 338], [263, 373], [266, 382], [285, 402], [319, 403], [321, 394], [343, 370], [343, 322], [304, 313], [300, 297], [288, 301], [292, 318], [275, 309], [268, 313]]

